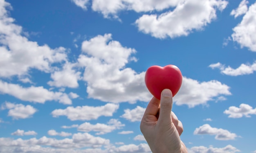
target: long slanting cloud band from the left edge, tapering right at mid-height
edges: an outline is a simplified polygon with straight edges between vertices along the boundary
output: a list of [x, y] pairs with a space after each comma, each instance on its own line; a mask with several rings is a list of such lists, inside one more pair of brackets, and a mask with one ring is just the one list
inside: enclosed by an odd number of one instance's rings
[[45, 101], [59, 101], [63, 104], [72, 104], [67, 94], [62, 92], [51, 92], [44, 87], [22, 87], [17, 84], [7, 83], [0, 80], [0, 92], [9, 94], [22, 101], [45, 103]]

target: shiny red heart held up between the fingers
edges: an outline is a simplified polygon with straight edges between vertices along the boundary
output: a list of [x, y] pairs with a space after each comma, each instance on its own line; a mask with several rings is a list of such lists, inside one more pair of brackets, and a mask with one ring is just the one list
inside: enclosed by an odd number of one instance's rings
[[180, 69], [174, 65], [151, 66], [146, 71], [145, 83], [149, 92], [157, 99], [160, 99], [164, 89], [170, 89], [175, 96], [182, 84], [182, 74]]

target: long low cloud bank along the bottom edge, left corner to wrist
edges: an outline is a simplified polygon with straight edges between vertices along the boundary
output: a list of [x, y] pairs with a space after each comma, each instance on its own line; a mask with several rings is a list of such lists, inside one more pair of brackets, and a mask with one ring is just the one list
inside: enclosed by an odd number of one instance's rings
[[[123, 144], [123, 143], [119, 143]], [[101, 147], [104, 146], [105, 150]], [[129, 144], [119, 147], [110, 145], [108, 139], [94, 137], [89, 133], [76, 133], [71, 139], [57, 140], [54, 138], [42, 137], [10, 139], [0, 138], [0, 152], [22, 152], [22, 153], [150, 153], [148, 144]]]

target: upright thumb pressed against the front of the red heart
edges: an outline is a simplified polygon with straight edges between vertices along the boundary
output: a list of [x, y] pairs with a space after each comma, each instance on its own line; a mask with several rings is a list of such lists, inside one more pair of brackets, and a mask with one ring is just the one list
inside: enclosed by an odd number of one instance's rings
[[171, 109], [173, 105], [173, 94], [171, 90], [164, 89], [160, 99], [160, 113], [158, 121], [163, 126], [168, 126], [172, 123]]

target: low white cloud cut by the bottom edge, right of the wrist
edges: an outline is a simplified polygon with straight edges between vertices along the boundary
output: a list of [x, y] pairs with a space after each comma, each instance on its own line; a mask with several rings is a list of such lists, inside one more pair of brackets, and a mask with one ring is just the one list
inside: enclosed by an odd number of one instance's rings
[[188, 149], [189, 153], [237, 153], [240, 150], [236, 149], [236, 147], [231, 146], [230, 144], [223, 148], [213, 148], [210, 146], [209, 148], [205, 146], [194, 146], [191, 149]]

